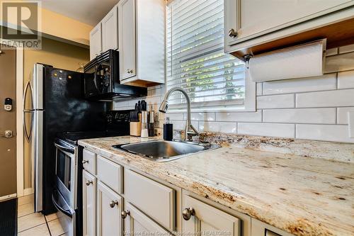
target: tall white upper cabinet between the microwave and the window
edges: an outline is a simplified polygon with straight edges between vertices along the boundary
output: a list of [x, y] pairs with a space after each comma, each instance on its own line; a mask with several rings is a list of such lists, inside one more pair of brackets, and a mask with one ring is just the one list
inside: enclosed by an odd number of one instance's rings
[[121, 83], [164, 84], [164, 0], [122, 0], [118, 3]]

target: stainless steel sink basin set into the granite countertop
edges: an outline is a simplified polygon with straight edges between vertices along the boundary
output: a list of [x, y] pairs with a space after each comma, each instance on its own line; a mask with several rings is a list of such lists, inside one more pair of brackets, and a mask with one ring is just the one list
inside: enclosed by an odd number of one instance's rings
[[152, 159], [156, 162], [169, 162], [181, 157], [187, 157], [190, 154], [215, 150], [220, 146], [202, 142], [152, 140], [124, 145], [113, 145], [113, 147]]

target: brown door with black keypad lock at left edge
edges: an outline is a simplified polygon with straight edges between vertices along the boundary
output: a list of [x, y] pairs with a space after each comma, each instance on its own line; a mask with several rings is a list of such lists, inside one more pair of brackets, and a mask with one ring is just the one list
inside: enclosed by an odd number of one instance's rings
[[[12, 99], [10, 111], [5, 99]], [[0, 52], [0, 198], [16, 193], [16, 50]]]

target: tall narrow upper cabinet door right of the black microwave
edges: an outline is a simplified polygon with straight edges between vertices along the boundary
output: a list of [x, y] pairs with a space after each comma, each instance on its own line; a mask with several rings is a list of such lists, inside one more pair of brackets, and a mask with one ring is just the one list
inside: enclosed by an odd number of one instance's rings
[[135, 32], [135, 0], [123, 0], [119, 5], [120, 18], [120, 63], [122, 79], [137, 74]]

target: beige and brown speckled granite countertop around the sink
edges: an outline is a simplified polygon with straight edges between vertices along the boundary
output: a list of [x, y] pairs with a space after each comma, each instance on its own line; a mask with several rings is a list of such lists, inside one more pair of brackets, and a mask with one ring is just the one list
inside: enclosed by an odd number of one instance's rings
[[106, 137], [79, 145], [294, 235], [354, 235], [353, 163], [239, 147], [153, 162], [112, 147], [141, 140]]

